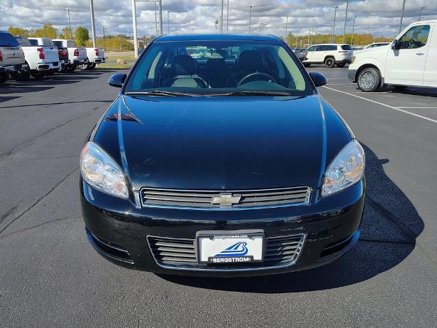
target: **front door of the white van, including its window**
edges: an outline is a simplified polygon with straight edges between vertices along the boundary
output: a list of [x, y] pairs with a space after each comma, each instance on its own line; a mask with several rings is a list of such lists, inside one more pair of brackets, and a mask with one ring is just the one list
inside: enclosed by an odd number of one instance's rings
[[384, 81], [390, 84], [423, 85], [431, 25], [414, 25], [401, 38], [399, 49], [388, 51]]

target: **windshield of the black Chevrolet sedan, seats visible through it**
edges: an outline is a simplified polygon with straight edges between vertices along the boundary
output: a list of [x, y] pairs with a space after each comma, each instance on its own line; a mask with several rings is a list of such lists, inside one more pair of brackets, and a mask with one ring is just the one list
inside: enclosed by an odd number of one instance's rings
[[153, 42], [126, 83], [129, 92], [306, 96], [305, 70], [281, 42]]

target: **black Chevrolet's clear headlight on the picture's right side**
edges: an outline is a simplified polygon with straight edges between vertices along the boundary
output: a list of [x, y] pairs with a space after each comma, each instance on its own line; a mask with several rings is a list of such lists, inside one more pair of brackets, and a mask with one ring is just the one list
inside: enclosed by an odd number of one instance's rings
[[360, 143], [353, 139], [327, 168], [322, 196], [337, 193], [360, 181], [364, 175], [364, 165], [364, 150]]

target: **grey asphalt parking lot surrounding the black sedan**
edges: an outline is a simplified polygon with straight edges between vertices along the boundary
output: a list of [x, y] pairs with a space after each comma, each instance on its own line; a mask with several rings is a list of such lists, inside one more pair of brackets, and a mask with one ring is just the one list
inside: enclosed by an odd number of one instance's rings
[[112, 70], [0, 87], [0, 327], [437, 327], [437, 91], [311, 66], [366, 151], [362, 236], [325, 267], [238, 279], [117, 267], [86, 241], [79, 151]]

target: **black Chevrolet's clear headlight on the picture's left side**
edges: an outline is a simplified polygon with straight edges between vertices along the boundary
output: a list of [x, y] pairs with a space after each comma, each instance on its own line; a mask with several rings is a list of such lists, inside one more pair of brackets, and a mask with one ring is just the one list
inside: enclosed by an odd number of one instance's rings
[[129, 197], [123, 171], [97, 143], [88, 142], [80, 154], [82, 178], [92, 187], [121, 198]]

